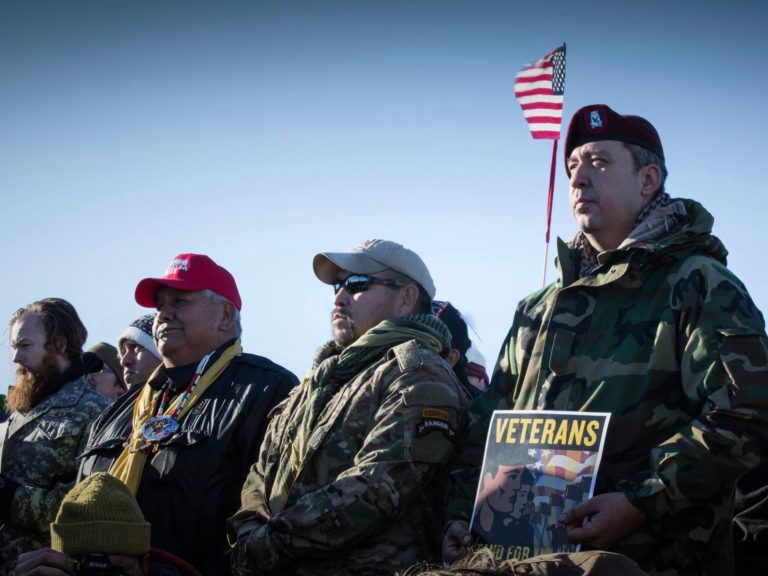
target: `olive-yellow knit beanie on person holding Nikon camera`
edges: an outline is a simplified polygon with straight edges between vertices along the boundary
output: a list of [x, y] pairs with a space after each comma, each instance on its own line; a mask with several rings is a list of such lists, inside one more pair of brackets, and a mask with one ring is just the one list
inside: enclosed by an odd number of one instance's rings
[[149, 529], [128, 487], [98, 472], [62, 500], [51, 524], [51, 548], [72, 557], [89, 553], [143, 556], [149, 552]]

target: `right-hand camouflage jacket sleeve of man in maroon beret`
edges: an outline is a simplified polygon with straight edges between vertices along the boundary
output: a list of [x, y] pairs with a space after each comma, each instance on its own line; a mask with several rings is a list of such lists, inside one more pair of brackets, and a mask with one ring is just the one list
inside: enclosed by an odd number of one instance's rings
[[730, 493], [768, 445], [768, 339], [746, 289], [710, 264], [683, 274], [672, 298], [683, 392], [702, 408], [652, 451], [649, 477], [626, 492], [651, 520]]

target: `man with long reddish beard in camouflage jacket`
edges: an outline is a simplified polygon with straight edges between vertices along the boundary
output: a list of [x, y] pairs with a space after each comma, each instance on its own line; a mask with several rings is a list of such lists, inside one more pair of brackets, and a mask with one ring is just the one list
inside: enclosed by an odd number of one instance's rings
[[73, 486], [75, 457], [90, 423], [109, 405], [88, 374], [102, 363], [83, 355], [88, 332], [75, 308], [46, 298], [10, 321], [16, 384], [0, 425], [0, 574], [24, 551], [50, 545], [49, 525]]

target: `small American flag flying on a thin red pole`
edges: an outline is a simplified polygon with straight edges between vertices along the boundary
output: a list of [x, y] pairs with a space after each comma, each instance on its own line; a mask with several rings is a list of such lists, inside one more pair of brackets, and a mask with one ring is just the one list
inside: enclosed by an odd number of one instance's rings
[[523, 68], [515, 77], [515, 98], [520, 102], [531, 136], [559, 140], [565, 92], [565, 44]]

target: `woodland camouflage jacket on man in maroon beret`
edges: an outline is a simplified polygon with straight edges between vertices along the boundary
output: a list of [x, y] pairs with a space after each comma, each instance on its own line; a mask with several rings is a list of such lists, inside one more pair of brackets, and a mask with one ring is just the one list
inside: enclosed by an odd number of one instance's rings
[[474, 496], [494, 409], [611, 412], [596, 493], [621, 491], [647, 521], [619, 542], [651, 574], [732, 574], [736, 479], [767, 437], [763, 317], [725, 267], [712, 216], [607, 251], [587, 277], [559, 242], [559, 278], [517, 307], [489, 390], [470, 408], [453, 518]]

